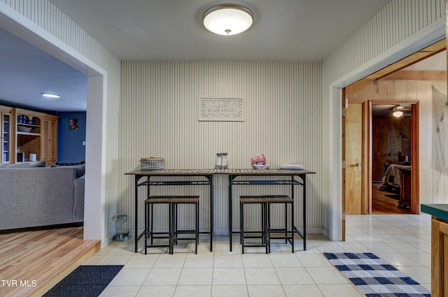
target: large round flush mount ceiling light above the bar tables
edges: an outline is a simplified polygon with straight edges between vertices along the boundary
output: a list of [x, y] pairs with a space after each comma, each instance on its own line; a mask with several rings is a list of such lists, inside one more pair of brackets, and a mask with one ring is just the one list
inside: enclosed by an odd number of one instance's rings
[[211, 7], [202, 15], [207, 30], [220, 35], [235, 35], [252, 26], [253, 13], [238, 4], [220, 4]]

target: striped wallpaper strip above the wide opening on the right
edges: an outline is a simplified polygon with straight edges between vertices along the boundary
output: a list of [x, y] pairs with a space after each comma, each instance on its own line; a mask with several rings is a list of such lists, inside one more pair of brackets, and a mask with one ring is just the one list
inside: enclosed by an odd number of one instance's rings
[[325, 59], [325, 75], [337, 80], [444, 18], [444, 2], [392, 0]]

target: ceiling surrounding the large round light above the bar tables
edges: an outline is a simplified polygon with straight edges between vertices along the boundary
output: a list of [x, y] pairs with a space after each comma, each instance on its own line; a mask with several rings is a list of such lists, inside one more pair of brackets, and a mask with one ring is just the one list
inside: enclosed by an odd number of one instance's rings
[[238, 0], [254, 24], [219, 36], [216, 0], [50, 0], [119, 59], [322, 61], [391, 0]]

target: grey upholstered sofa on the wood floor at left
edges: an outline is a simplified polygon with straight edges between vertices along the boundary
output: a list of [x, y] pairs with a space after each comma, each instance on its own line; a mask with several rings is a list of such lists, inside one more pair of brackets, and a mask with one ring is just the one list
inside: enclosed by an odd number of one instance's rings
[[0, 164], [0, 230], [83, 222], [84, 166]]

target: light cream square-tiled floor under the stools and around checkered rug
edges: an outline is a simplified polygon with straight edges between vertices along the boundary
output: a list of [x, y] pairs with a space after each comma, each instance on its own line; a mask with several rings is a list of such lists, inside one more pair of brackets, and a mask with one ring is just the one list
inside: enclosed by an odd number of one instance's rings
[[[206, 236], [198, 253], [193, 244], [179, 244], [174, 254], [163, 249], [134, 253], [134, 240], [111, 242], [84, 265], [124, 265], [103, 291], [113, 296], [363, 296], [323, 256], [323, 252], [373, 252], [430, 289], [429, 215], [347, 215], [346, 241], [332, 242], [309, 235], [307, 251], [297, 238], [290, 246], [245, 249], [235, 241], [229, 252], [228, 237], [214, 238], [209, 252]], [[185, 243], [185, 242], [184, 242]]]

